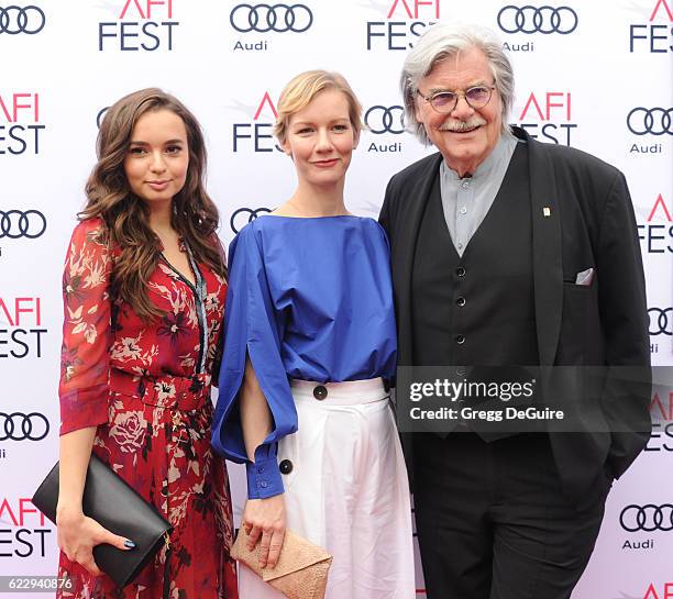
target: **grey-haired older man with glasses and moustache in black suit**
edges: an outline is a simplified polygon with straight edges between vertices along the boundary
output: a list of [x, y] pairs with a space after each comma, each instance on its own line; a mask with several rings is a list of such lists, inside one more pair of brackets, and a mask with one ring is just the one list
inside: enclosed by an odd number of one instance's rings
[[[507, 126], [511, 66], [487, 31], [429, 29], [401, 88], [408, 125], [439, 153], [390, 179], [380, 213], [400, 367], [539, 368], [534, 402], [569, 417], [537, 433], [406, 435], [428, 597], [567, 598], [613, 478], [649, 436], [627, 184], [598, 158]], [[567, 374], [578, 366], [594, 368]]]

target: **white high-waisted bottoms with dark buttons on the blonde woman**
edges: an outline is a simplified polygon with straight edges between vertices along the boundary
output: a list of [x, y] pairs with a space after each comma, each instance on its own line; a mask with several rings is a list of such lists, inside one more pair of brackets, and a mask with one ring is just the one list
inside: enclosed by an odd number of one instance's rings
[[[415, 599], [409, 485], [380, 378], [293, 381], [299, 431], [283, 439], [287, 528], [334, 556], [326, 599]], [[320, 392], [318, 393], [320, 396]], [[284, 599], [240, 565], [241, 599]]]

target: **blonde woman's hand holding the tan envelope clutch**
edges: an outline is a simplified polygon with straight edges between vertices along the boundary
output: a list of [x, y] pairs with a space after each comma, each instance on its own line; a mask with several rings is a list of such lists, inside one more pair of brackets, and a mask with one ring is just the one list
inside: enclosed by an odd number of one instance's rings
[[243, 526], [247, 532], [247, 548], [260, 541], [260, 566], [276, 567], [285, 539], [285, 496], [249, 499], [243, 510]]

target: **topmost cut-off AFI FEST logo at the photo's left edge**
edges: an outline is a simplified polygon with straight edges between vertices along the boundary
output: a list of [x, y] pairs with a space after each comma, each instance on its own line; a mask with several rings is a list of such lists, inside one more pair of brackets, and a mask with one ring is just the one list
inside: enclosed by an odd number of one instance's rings
[[41, 124], [40, 93], [0, 92], [0, 155], [40, 154]]

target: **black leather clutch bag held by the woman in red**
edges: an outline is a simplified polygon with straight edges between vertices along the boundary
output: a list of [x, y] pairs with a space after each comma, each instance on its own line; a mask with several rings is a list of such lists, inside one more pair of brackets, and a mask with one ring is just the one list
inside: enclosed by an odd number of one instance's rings
[[[33, 496], [33, 504], [56, 523], [58, 501], [58, 463]], [[168, 544], [170, 524], [135, 490], [117, 476], [96, 455], [91, 455], [82, 497], [82, 511], [114, 534], [135, 543], [121, 551], [112, 545], [93, 547], [93, 558], [118, 587], [123, 588], [137, 576], [163, 543]]]

